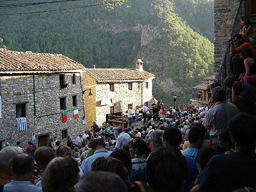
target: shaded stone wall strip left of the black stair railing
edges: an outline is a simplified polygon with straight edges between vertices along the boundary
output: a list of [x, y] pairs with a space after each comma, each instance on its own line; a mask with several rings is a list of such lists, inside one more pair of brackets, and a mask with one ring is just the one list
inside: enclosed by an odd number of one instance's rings
[[[225, 53], [228, 37], [231, 33], [234, 19], [238, 11], [240, 0], [215, 0], [214, 19], [215, 19], [215, 72], [221, 66], [221, 61]], [[244, 5], [243, 5], [244, 6]]]

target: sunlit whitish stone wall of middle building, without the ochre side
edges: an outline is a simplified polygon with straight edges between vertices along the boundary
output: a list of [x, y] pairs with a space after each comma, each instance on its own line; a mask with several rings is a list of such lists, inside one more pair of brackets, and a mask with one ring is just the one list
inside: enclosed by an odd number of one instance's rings
[[[99, 83], [96, 86], [96, 119], [98, 125], [105, 122], [106, 114], [110, 113], [110, 106], [114, 106], [115, 113], [127, 112], [128, 104], [142, 106], [144, 102], [151, 101], [152, 96], [152, 80], [148, 81], [148, 88], [145, 88], [145, 81], [133, 82], [133, 89], [128, 89], [127, 82], [115, 83], [115, 91], [110, 91], [108, 83]], [[112, 99], [113, 105], [101, 106], [102, 99]]]

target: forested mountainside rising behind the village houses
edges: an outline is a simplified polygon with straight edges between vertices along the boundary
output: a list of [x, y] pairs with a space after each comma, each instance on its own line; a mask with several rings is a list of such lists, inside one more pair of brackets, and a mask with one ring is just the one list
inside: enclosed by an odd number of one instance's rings
[[[18, 1], [28, 2], [33, 1]], [[1, 5], [10, 3], [17, 2]], [[131, 0], [6, 15], [97, 3], [102, 0], [0, 7], [0, 46], [15, 51], [61, 53], [87, 68], [134, 68], [134, 61], [141, 58], [144, 69], [156, 75], [153, 95], [157, 99], [169, 105], [172, 96], [177, 95], [178, 104], [189, 103], [191, 88], [213, 73], [214, 47], [209, 41], [213, 40], [213, 0]]]

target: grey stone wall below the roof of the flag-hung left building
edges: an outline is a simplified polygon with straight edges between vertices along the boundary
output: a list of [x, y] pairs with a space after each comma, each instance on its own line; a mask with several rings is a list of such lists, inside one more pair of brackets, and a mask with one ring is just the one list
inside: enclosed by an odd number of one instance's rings
[[[76, 73], [76, 83], [72, 84], [72, 74], [65, 74], [67, 88], [60, 88], [59, 74], [35, 74], [24, 76], [1, 76], [2, 119], [0, 119], [0, 140], [10, 144], [22, 141], [23, 146], [36, 138], [47, 135], [61, 140], [61, 131], [67, 129], [73, 139], [86, 129], [83, 120], [83, 98], [80, 73]], [[35, 88], [35, 97], [34, 97]], [[79, 117], [73, 118], [73, 99], [77, 95]], [[62, 122], [60, 98], [66, 97], [67, 121]], [[16, 104], [26, 103], [27, 131], [18, 132], [16, 123]]]

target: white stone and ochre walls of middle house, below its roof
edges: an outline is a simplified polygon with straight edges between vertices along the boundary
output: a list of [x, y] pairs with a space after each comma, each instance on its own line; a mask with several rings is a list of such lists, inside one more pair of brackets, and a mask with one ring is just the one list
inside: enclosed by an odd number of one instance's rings
[[[132, 82], [132, 90], [128, 88], [129, 82]], [[114, 83], [114, 91], [110, 90], [110, 83]], [[92, 125], [92, 121], [96, 121], [98, 125], [105, 123], [106, 114], [110, 114], [111, 106], [114, 106], [114, 113], [127, 112], [128, 104], [133, 104], [135, 108], [136, 105], [142, 106], [144, 102], [150, 102], [153, 99], [152, 79], [97, 82], [87, 73], [83, 85], [84, 90], [91, 89], [93, 94], [92, 99], [87, 98], [87, 92], [84, 94], [88, 128]], [[112, 103], [101, 105], [101, 101], [106, 99], [112, 99]]]

